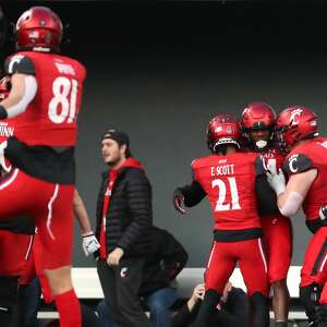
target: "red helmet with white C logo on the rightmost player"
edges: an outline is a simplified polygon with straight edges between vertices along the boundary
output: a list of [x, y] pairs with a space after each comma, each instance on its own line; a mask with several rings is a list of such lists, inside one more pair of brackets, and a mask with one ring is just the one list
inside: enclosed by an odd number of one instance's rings
[[277, 118], [275, 133], [280, 150], [288, 153], [298, 141], [319, 135], [317, 116], [305, 107], [287, 108]]

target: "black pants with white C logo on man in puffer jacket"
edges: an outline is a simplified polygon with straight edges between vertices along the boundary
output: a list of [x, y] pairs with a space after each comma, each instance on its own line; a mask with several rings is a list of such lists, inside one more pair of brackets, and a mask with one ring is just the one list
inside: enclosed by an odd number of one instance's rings
[[138, 298], [144, 261], [122, 258], [117, 267], [109, 267], [102, 259], [97, 263], [106, 303], [120, 327], [150, 327]]

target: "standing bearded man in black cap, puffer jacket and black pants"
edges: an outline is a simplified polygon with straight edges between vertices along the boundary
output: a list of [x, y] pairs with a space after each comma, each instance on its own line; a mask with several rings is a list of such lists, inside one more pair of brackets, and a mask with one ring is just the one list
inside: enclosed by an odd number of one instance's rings
[[101, 154], [96, 237], [100, 242], [97, 271], [106, 304], [120, 327], [147, 327], [138, 291], [150, 245], [152, 187], [141, 164], [131, 156], [126, 133], [108, 130]]

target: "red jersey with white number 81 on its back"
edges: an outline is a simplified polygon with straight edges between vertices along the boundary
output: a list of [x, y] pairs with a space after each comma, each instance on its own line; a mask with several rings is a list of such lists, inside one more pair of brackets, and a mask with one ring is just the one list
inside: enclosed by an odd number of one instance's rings
[[37, 80], [35, 98], [15, 119], [15, 136], [29, 146], [74, 146], [85, 68], [64, 56], [33, 51], [9, 57], [4, 68]]

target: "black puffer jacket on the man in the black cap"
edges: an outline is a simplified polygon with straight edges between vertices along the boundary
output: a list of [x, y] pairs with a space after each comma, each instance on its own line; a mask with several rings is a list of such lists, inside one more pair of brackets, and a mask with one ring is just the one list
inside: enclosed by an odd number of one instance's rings
[[[96, 237], [100, 240], [104, 197], [109, 171], [102, 173], [97, 202]], [[144, 256], [149, 251], [152, 213], [152, 186], [140, 162], [129, 158], [120, 169], [113, 184], [106, 219], [106, 244], [110, 253], [116, 247], [124, 251], [124, 257]]]

